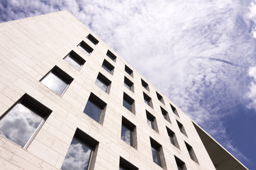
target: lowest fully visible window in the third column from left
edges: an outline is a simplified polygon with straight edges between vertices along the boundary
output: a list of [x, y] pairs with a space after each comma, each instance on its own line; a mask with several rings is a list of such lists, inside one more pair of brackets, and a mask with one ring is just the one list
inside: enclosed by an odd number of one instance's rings
[[121, 139], [132, 147], [137, 146], [135, 129], [136, 126], [133, 123], [122, 117]]

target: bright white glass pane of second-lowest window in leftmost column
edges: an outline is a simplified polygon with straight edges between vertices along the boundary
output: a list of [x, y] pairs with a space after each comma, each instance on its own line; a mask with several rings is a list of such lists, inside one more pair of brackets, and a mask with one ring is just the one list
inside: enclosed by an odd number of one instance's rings
[[47, 88], [54, 91], [56, 94], [61, 95], [65, 88], [68, 86], [66, 82], [61, 80], [57, 75], [50, 73], [42, 81], [42, 84]]

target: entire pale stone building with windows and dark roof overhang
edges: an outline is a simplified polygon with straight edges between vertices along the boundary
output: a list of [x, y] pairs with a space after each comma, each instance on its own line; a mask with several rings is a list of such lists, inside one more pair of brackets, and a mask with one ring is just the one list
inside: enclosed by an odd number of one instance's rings
[[247, 169], [68, 11], [0, 32], [1, 169]]

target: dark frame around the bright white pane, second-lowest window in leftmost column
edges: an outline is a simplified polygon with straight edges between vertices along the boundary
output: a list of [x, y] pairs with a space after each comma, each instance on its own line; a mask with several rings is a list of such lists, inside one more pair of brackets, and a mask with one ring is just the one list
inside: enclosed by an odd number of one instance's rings
[[[56, 77], [58, 77], [59, 79], [61, 79], [63, 82], [67, 83], [67, 86], [66, 88], [61, 92], [61, 94], [57, 94], [57, 92], [53, 91], [52, 89], [50, 89], [49, 87], [47, 87], [44, 83], [42, 83], [42, 81], [44, 79], [47, 78], [48, 75], [50, 74], [54, 74]], [[57, 94], [58, 96], [62, 97], [63, 94], [66, 92], [66, 90], [68, 89], [68, 87], [70, 86], [71, 82], [73, 81], [74, 79], [68, 75], [65, 71], [61, 70], [60, 67], [58, 67], [57, 65], [55, 65], [49, 72], [47, 72], [44, 77], [39, 80], [45, 87], [47, 87], [48, 89], [50, 89], [51, 91], [53, 91], [55, 94]]]

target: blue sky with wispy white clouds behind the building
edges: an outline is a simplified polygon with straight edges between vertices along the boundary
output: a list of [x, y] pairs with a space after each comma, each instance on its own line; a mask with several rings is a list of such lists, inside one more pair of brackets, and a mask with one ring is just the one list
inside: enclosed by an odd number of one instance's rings
[[0, 0], [0, 22], [61, 10], [256, 169], [256, 1]]

